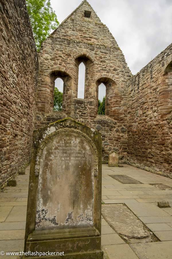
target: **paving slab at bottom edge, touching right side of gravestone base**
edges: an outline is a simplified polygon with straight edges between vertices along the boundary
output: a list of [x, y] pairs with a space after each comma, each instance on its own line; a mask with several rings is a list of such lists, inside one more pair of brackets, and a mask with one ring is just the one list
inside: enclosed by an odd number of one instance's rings
[[138, 259], [128, 244], [106, 245], [103, 247], [109, 259]]

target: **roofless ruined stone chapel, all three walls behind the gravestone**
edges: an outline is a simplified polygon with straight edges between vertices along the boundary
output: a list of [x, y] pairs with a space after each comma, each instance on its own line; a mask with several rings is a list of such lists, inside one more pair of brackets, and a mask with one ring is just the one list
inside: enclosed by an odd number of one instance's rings
[[[13, 11], [12, 11], [13, 10]], [[36, 53], [24, 0], [0, 4], [0, 185], [30, 162], [34, 129], [71, 117], [102, 135], [102, 162], [172, 177], [172, 44], [132, 75], [122, 50], [84, 0]], [[85, 65], [84, 98], [78, 71]], [[63, 80], [62, 111], [53, 111]], [[105, 115], [97, 115], [99, 85]]]

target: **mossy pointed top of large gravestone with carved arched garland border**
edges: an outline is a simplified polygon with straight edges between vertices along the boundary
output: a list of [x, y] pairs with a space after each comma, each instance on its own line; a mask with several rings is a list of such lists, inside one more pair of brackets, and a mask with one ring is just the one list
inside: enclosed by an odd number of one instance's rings
[[98, 175], [97, 163], [101, 154], [101, 133], [83, 123], [75, 121], [71, 118], [66, 118], [34, 131], [33, 148], [36, 152], [35, 176], [39, 176], [40, 157], [44, 146], [51, 138], [54, 138], [58, 134], [67, 132], [74, 133], [85, 138], [92, 146], [94, 151], [94, 176], [96, 177]]

